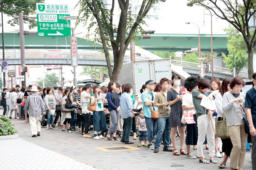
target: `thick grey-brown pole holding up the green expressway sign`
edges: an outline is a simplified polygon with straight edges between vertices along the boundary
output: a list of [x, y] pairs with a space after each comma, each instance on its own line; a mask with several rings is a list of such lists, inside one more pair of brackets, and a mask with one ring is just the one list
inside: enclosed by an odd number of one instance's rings
[[[19, 13], [19, 24], [20, 24], [20, 63], [21, 67], [25, 67], [25, 42], [24, 42], [24, 26], [23, 26], [23, 13]], [[24, 75], [24, 81], [22, 81], [22, 87], [26, 86], [26, 72], [21, 72]]]

